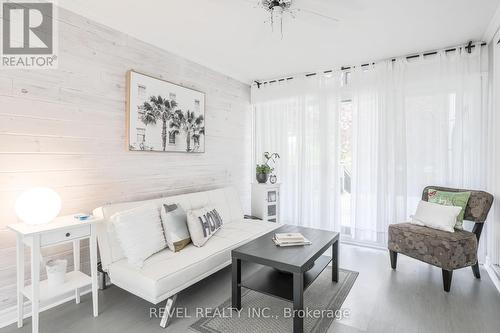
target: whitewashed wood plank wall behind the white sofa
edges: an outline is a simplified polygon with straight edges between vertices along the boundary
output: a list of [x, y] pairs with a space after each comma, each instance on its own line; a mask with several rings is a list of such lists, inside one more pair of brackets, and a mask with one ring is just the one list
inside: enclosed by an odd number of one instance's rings
[[[15, 199], [29, 187], [59, 192], [61, 214], [227, 185], [250, 206], [247, 84], [65, 9], [58, 20], [58, 69], [0, 69], [0, 314], [15, 306], [16, 291], [15, 239], [5, 226], [17, 222]], [[206, 93], [206, 153], [127, 150], [129, 69]], [[45, 255], [65, 256], [71, 268], [70, 250]]]

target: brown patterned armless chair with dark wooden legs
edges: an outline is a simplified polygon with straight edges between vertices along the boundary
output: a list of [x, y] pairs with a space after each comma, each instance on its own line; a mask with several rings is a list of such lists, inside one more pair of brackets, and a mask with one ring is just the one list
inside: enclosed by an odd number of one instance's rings
[[475, 222], [472, 232], [456, 230], [447, 232], [410, 223], [389, 226], [389, 254], [391, 266], [396, 269], [398, 253], [439, 267], [443, 271], [444, 290], [449, 292], [455, 269], [471, 266], [477, 279], [481, 278], [477, 262], [477, 247], [493, 196], [484, 191], [461, 190], [428, 186], [422, 200], [428, 201], [428, 189], [447, 192], [471, 192], [465, 207], [464, 220]]

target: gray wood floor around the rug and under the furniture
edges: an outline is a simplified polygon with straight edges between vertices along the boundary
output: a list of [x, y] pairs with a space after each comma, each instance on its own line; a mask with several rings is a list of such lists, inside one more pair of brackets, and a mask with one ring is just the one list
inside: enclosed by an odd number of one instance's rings
[[[342, 245], [342, 268], [360, 272], [343, 309], [350, 317], [334, 322], [329, 332], [499, 332], [500, 294], [486, 271], [476, 280], [470, 269], [454, 272], [451, 292], [442, 289], [441, 271], [411, 258], [399, 256], [392, 271], [384, 251]], [[185, 290], [177, 306], [215, 307], [230, 297], [229, 269], [224, 269]], [[69, 302], [40, 316], [40, 332], [186, 332], [196, 321], [176, 318], [163, 330], [159, 319], [149, 317], [150, 304], [116, 287], [99, 294], [99, 317], [91, 316], [88, 295], [79, 305]], [[31, 332], [30, 320], [2, 333]], [[259, 332], [262, 333], [262, 332]]]

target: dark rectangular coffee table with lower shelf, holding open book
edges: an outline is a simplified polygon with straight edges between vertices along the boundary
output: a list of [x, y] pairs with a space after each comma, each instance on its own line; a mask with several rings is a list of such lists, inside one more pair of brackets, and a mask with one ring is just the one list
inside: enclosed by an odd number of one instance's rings
[[[312, 244], [278, 247], [272, 237], [283, 232], [300, 232]], [[241, 309], [241, 287], [293, 302], [293, 332], [303, 332], [304, 317], [300, 310], [304, 309], [304, 291], [330, 262], [332, 281], [338, 282], [338, 241], [338, 232], [283, 225], [232, 250], [233, 308]], [[322, 256], [330, 247], [332, 257]], [[244, 279], [241, 278], [242, 262], [245, 271], [255, 271]]]

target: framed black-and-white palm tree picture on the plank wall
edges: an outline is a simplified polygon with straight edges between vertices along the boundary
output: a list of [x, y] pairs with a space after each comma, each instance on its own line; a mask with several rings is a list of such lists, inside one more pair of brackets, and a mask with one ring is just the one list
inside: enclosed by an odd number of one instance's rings
[[205, 152], [205, 94], [135, 71], [127, 72], [128, 148]]

